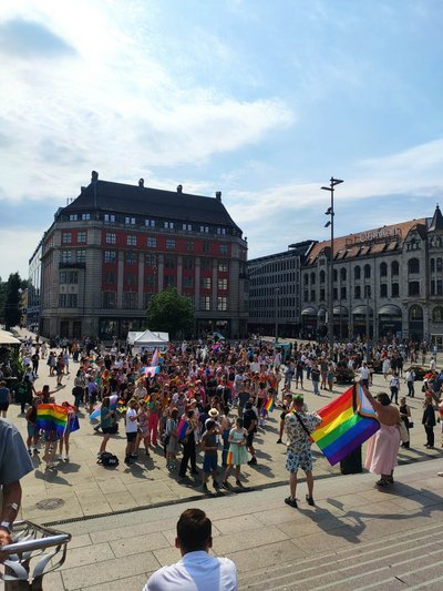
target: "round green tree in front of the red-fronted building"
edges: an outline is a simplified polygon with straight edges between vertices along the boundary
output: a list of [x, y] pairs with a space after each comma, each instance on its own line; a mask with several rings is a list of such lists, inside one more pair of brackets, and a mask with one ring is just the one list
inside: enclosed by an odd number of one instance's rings
[[155, 295], [146, 309], [150, 330], [169, 333], [172, 338], [193, 329], [194, 303], [181, 296], [175, 287]]

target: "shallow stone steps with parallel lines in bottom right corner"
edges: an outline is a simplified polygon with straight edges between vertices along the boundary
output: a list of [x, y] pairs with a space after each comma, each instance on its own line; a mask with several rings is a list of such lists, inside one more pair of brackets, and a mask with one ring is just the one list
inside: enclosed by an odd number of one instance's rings
[[[290, 564], [278, 564], [259, 569], [241, 578], [240, 589], [260, 591], [302, 589], [359, 589], [360, 584], [380, 579], [374, 585], [398, 582], [408, 573], [426, 563], [437, 562], [433, 549], [443, 542], [443, 524], [429, 526], [400, 533], [384, 536], [375, 542], [360, 543], [352, 548], [332, 552], [316, 553], [316, 558], [300, 559]], [[333, 540], [331, 540], [333, 544]], [[316, 549], [312, 548], [312, 552]], [[423, 552], [426, 553], [422, 558]], [[395, 574], [393, 574], [395, 571]], [[439, 582], [440, 571], [431, 570]], [[412, 574], [411, 574], [412, 575]], [[404, 588], [404, 583], [403, 584]], [[363, 587], [365, 589], [365, 587]], [[363, 589], [362, 588], [362, 589]]]

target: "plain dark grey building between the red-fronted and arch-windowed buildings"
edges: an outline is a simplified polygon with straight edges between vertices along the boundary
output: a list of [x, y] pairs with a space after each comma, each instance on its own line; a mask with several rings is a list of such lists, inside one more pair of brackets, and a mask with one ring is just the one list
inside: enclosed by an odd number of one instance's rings
[[300, 269], [316, 244], [313, 241], [292, 244], [288, 251], [248, 262], [250, 333], [299, 335]]

